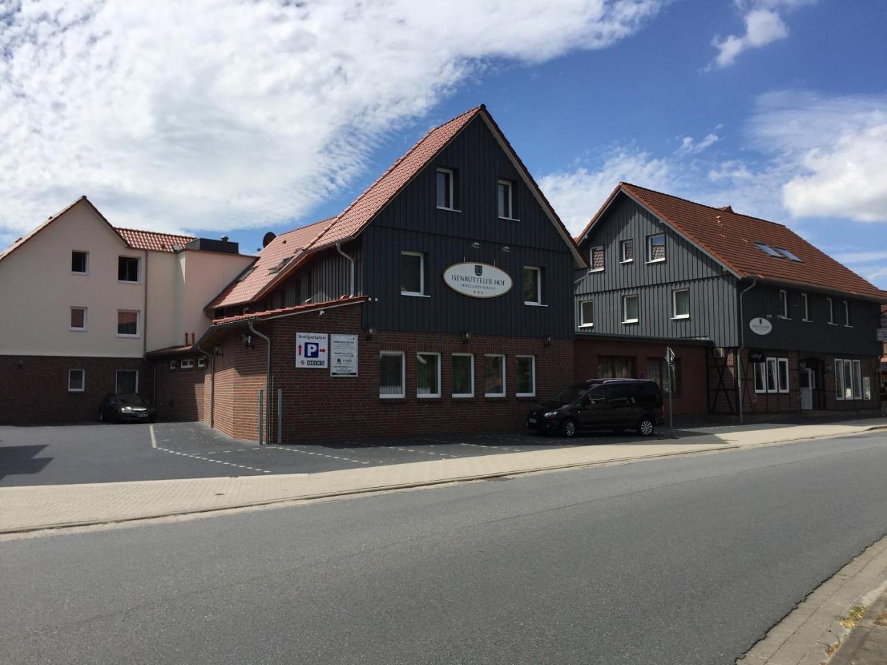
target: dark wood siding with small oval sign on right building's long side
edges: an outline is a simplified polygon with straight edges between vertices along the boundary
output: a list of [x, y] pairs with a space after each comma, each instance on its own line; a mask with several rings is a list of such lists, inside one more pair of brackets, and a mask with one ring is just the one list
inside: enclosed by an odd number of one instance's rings
[[[828, 295], [801, 289], [786, 288], [789, 301], [789, 318], [781, 318], [780, 287], [758, 285], [743, 297], [746, 322], [755, 317], [765, 317], [773, 324], [773, 331], [757, 335], [746, 324], [745, 344], [751, 348], [797, 349], [814, 353], [877, 356], [881, 345], [875, 336], [875, 328], [881, 314], [881, 306], [875, 302], [852, 300], [843, 295]], [[804, 321], [801, 293], [807, 293], [810, 321]], [[835, 307], [835, 324], [828, 325], [830, 297]], [[850, 305], [852, 327], [844, 325], [844, 300]]]

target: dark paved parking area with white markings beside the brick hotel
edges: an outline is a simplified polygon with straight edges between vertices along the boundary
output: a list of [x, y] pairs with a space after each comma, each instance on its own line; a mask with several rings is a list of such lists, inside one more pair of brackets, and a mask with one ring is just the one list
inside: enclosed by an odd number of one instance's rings
[[528, 432], [259, 446], [201, 423], [0, 426], [0, 487], [320, 473], [639, 438], [600, 433], [567, 440]]

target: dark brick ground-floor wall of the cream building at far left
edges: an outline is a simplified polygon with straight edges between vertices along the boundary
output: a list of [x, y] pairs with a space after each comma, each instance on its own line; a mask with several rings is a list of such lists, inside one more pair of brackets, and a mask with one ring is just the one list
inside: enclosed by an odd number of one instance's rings
[[[82, 393], [68, 392], [74, 369], [86, 372]], [[0, 424], [96, 420], [117, 370], [137, 370], [138, 392], [153, 398], [153, 368], [141, 358], [0, 356]]]

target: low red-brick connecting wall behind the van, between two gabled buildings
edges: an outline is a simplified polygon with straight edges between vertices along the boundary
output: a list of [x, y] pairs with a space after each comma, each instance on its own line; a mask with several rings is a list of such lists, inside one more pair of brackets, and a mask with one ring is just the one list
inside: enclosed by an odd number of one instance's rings
[[[663, 358], [665, 348], [671, 346], [680, 362], [680, 394], [673, 395], [674, 413], [690, 415], [706, 413], [705, 355], [708, 347], [698, 344], [642, 342], [636, 340], [589, 340], [575, 341], [575, 372], [577, 381], [598, 378], [600, 356], [630, 356], [634, 358], [634, 379], [647, 378], [649, 358]], [[667, 396], [664, 404], [668, 409]]]

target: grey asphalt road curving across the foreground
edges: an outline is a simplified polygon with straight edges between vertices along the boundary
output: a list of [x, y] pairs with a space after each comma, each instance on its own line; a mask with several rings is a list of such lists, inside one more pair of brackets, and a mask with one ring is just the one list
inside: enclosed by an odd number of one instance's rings
[[0, 541], [9, 663], [733, 663], [887, 532], [883, 433]]

